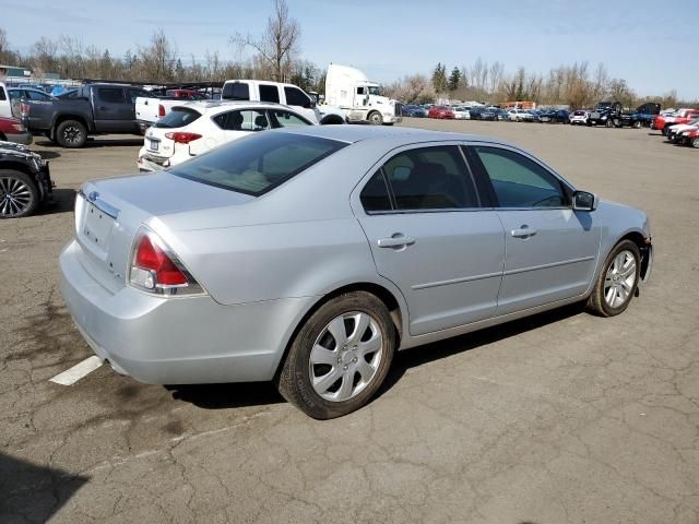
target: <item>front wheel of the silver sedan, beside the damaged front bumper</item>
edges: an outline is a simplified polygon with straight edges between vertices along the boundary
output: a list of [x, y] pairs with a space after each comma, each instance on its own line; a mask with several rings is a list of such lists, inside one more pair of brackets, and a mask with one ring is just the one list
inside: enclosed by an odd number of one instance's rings
[[636, 295], [641, 269], [641, 253], [631, 240], [621, 240], [607, 257], [588, 309], [601, 317], [614, 317], [629, 307]]

